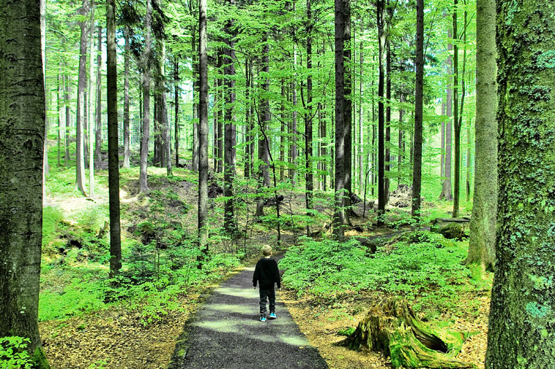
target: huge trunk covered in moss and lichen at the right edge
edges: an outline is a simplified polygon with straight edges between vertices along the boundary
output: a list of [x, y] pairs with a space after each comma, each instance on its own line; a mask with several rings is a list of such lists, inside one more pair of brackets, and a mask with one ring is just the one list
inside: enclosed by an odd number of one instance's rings
[[499, 199], [486, 368], [555, 363], [555, 11], [497, 1]]

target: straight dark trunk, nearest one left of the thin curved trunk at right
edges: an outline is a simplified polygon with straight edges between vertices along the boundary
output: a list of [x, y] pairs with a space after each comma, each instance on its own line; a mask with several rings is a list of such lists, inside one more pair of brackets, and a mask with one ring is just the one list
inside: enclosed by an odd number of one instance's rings
[[411, 216], [420, 218], [422, 186], [422, 97], [424, 90], [424, 0], [416, 2], [416, 83], [414, 102], [414, 150]]

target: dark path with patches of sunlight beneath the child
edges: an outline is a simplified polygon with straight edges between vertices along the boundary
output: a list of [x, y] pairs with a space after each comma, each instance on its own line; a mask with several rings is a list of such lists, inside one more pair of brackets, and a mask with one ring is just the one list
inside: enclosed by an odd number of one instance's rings
[[323, 369], [324, 359], [279, 297], [275, 320], [259, 321], [254, 266], [224, 281], [185, 325], [170, 369]]

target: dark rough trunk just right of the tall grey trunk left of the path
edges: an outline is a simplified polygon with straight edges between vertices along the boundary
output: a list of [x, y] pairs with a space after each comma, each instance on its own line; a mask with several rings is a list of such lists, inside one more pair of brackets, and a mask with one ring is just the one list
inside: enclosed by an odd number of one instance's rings
[[[231, 8], [234, 0], [226, 1]], [[230, 9], [231, 10], [231, 9]], [[233, 105], [235, 104], [235, 51], [234, 51], [234, 31], [231, 19], [225, 22], [223, 31], [225, 38], [225, 67], [223, 75], [225, 79], [225, 133], [224, 133], [224, 169], [223, 169], [223, 196], [225, 199], [223, 213], [223, 227], [226, 232], [232, 233], [237, 228], [234, 224], [234, 202], [233, 202], [233, 182], [235, 178], [235, 158], [234, 158], [234, 115]]]

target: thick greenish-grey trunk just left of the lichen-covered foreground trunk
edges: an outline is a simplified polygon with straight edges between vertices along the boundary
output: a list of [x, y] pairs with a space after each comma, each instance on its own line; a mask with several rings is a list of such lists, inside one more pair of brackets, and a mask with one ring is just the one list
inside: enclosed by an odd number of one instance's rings
[[476, 156], [466, 263], [479, 263], [484, 270], [493, 270], [497, 216], [497, 49], [491, 35], [495, 33], [495, 0], [479, 0], [476, 6]]

